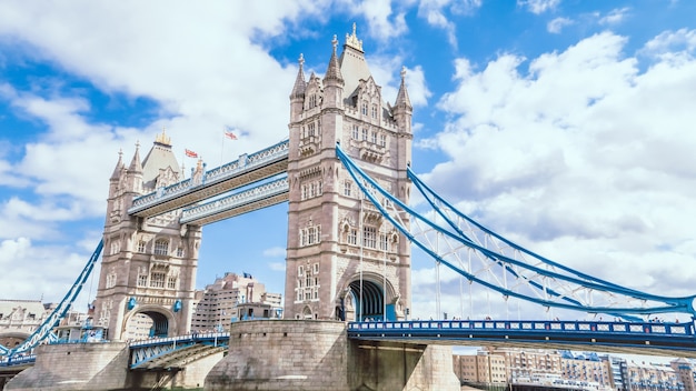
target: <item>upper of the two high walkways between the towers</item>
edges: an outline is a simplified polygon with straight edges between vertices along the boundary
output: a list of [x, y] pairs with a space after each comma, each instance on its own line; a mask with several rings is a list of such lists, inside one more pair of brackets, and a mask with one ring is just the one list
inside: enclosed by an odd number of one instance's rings
[[195, 183], [191, 179], [186, 179], [166, 188], [158, 189], [149, 194], [138, 197], [133, 199], [133, 203], [128, 210], [128, 213], [138, 213], [153, 204], [176, 199], [202, 187], [222, 182], [245, 172], [253, 171], [270, 163], [287, 159], [289, 148], [290, 141], [285, 140], [258, 152], [248, 156], [243, 154], [239, 159], [227, 164], [208, 170], [200, 183]]

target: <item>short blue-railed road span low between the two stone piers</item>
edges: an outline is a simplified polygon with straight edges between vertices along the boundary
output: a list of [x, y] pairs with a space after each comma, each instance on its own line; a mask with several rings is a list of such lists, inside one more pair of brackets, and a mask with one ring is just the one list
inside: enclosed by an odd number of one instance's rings
[[200, 357], [223, 350], [229, 342], [228, 332], [156, 338], [131, 342], [130, 369], [179, 368], [183, 359], [193, 361]]

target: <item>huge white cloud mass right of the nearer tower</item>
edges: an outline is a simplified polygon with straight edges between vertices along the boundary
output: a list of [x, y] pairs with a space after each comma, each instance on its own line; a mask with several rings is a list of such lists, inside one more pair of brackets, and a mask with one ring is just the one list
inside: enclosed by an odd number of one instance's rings
[[[686, 36], [686, 34], [684, 34]], [[560, 263], [639, 290], [689, 294], [696, 278], [696, 60], [624, 58], [626, 39], [587, 38], [529, 61], [456, 62], [453, 116], [424, 176], [441, 196]], [[569, 77], [573, 76], [573, 77]], [[416, 285], [429, 281], [415, 274]], [[667, 283], [668, 281], [668, 283]]]

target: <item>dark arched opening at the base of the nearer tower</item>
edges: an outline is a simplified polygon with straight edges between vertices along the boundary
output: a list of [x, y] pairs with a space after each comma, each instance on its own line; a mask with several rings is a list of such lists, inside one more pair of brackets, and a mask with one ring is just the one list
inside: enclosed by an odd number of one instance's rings
[[[348, 284], [337, 318], [348, 321], [382, 321], [385, 317], [385, 289], [371, 280], [355, 280]], [[389, 311], [387, 311], [389, 312]]]

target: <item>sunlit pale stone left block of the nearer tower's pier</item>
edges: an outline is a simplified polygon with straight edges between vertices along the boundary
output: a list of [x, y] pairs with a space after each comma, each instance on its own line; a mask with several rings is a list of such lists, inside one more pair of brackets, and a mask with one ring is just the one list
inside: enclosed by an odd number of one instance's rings
[[205, 390], [348, 390], [347, 343], [342, 322], [236, 322]]

